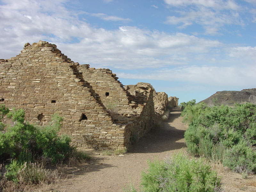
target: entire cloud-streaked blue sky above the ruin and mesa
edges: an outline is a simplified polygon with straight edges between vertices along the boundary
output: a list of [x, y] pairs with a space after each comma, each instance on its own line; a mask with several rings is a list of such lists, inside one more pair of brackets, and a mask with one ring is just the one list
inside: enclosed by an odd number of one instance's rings
[[0, 59], [39, 40], [179, 102], [256, 88], [256, 0], [0, 0]]

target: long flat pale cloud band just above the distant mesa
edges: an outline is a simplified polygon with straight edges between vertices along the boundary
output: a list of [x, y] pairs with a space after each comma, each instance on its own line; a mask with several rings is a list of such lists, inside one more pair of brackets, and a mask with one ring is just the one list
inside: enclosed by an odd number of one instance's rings
[[152, 74], [117, 74], [121, 78], [151, 79], [175, 82], [189, 82], [198, 86], [244, 86], [255, 87], [256, 68], [254, 66], [214, 67], [184, 66], [173, 69], [158, 70]]

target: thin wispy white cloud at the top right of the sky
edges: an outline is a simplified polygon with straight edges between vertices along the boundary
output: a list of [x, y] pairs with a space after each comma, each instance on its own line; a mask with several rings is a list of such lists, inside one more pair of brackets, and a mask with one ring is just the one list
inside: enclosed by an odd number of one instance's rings
[[[236, 4], [233, 0], [164, 0], [170, 9], [178, 7], [175, 11], [179, 16], [168, 16], [166, 24], [178, 25], [186, 28], [192, 24], [199, 24], [205, 29], [206, 35], [221, 34], [226, 25], [244, 26], [240, 14], [248, 9]], [[251, 10], [253, 12], [253, 9]]]

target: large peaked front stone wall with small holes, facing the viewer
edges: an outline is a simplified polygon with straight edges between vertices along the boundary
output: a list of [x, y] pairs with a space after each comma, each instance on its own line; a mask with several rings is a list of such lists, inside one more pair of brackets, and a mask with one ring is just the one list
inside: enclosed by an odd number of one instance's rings
[[26, 119], [46, 124], [58, 112], [60, 133], [82, 148], [124, 148], [125, 124], [113, 124], [100, 97], [77, 66], [48, 42], [25, 44], [16, 57], [0, 61], [0, 98], [9, 108], [23, 108]]

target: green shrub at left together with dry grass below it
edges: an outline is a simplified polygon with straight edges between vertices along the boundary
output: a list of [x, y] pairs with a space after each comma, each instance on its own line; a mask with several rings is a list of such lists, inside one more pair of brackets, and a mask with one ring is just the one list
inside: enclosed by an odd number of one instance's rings
[[[1, 122], [5, 115], [12, 118], [13, 126]], [[70, 159], [89, 159], [88, 155], [69, 145], [68, 136], [58, 136], [62, 117], [54, 114], [48, 126], [35, 126], [24, 120], [23, 109], [13, 108], [10, 112], [0, 105], [0, 189], [6, 184], [3, 180], [29, 184], [51, 180], [52, 173], [38, 161], [55, 164]]]

